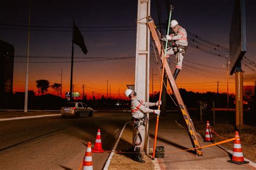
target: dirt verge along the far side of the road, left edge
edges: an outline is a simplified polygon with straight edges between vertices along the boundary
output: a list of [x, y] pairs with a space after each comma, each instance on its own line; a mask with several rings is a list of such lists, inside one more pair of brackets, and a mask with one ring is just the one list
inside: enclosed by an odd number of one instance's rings
[[45, 111], [34, 111], [34, 112], [0, 111], [0, 119], [16, 118], [16, 117], [26, 117], [26, 116], [31, 116], [31, 115], [47, 115], [47, 114], [60, 114], [60, 111], [59, 112], [45, 112]]

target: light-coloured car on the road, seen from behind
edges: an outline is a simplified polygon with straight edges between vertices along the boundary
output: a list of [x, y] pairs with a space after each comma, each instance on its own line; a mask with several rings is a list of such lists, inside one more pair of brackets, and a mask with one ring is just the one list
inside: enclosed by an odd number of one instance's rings
[[80, 102], [70, 102], [66, 103], [64, 107], [61, 108], [62, 117], [65, 116], [75, 116], [80, 117], [80, 115], [88, 115], [92, 117], [93, 109], [87, 106], [85, 103]]

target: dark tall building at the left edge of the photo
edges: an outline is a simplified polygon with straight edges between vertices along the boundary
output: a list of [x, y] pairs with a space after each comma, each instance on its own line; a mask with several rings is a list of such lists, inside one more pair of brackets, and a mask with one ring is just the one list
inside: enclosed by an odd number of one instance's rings
[[14, 45], [0, 40], [0, 94], [12, 93]]

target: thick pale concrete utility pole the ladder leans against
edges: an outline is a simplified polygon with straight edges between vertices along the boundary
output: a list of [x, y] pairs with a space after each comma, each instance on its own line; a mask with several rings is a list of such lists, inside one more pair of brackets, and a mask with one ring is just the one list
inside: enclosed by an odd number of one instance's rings
[[[146, 17], [150, 16], [150, 0], [138, 0], [137, 35], [136, 35], [136, 65], [135, 86], [137, 98], [149, 101], [149, 74], [150, 74], [150, 31]], [[149, 120], [149, 113], [146, 114]], [[149, 153], [149, 141], [145, 134], [149, 134], [149, 124], [146, 124], [142, 135], [142, 149]]]

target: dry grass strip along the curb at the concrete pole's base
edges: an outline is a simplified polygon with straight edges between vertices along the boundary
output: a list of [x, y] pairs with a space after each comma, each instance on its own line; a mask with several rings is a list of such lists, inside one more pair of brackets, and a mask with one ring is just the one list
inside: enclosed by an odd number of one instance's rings
[[[131, 152], [132, 151], [132, 133], [133, 123], [126, 125], [122, 137], [118, 143], [117, 151]], [[132, 159], [132, 153], [114, 153], [109, 169], [154, 169], [153, 162], [150, 157], [144, 155], [144, 164], [138, 163]]]

